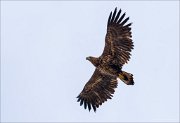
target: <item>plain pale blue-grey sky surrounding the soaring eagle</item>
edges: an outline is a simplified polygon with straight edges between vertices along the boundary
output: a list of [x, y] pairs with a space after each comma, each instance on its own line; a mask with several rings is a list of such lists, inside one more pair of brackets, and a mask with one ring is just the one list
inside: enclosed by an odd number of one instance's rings
[[[179, 121], [178, 1], [1, 1], [1, 121]], [[133, 22], [134, 50], [97, 112], [76, 96], [94, 71], [115, 7]]]

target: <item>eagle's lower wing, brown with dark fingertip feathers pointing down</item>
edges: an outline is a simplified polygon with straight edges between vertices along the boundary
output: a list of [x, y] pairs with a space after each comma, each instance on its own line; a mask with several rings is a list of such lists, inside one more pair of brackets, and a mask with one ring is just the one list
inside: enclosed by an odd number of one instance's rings
[[107, 99], [111, 99], [116, 87], [115, 76], [106, 75], [96, 69], [82, 92], [77, 96], [77, 101], [80, 101], [80, 105], [84, 104], [85, 109], [88, 107], [89, 111], [91, 108], [96, 111], [99, 105], [102, 105]]

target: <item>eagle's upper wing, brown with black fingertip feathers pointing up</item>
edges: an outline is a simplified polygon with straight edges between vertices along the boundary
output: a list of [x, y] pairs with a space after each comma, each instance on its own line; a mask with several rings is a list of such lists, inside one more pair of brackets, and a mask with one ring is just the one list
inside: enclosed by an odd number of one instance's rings
[[115, 8], [109, 15], [105, 47], [101, 57], [111, 55], [115, 62], [122, 66], [130, 59], [130, 52], [134, 45], [131, 39], [131, 23], [126, 24], [129, 17], [124, 19], [125, 13], [121, 16], [120, 14], [121, 9], [117, 13], [117, 8]]

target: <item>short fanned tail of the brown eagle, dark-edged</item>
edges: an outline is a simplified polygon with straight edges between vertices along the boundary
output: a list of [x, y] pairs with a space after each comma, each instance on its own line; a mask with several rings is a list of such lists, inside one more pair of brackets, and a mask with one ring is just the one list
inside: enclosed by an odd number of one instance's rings
[[134, 85], [133, 74], [122, 71], [119, 78], [127, 85]]

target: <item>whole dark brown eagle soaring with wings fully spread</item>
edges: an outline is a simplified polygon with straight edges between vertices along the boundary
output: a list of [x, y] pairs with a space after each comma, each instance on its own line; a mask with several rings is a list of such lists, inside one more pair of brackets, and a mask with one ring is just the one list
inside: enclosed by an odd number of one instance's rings
[[134, 85], [133, 74], [122, 71], [122, 66], [129, 61], [134, 47], [131, 39], [132, 23], [127, 24], [129, 17], [125, 18], [125, 15], [126, 13], [121, 14], [121, 9], [117, 12], [117, 7], [110, 13], [102, 55], [86, 57], [96, 69], [77, 96], [77, 101], [89, 111], [93, 109], [96, 112], [102, 103], [113, 97], [118, 85], [117, 78], [127, 85]]

